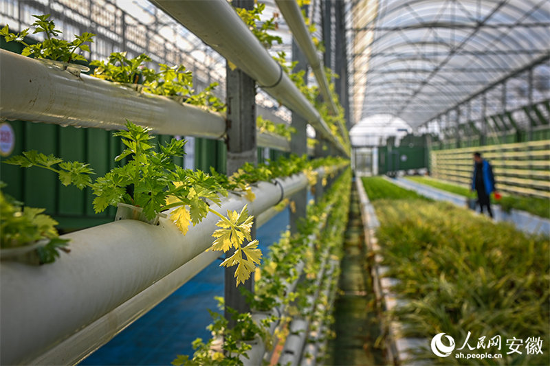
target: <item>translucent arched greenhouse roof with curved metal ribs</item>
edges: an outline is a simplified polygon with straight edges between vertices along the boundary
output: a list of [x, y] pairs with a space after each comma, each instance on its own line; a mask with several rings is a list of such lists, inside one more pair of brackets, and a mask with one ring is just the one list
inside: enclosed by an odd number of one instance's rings
[[390, 113], [415, 128], [550, 58], [548, 0], [357, 0], [353, 8], [355, 122]]

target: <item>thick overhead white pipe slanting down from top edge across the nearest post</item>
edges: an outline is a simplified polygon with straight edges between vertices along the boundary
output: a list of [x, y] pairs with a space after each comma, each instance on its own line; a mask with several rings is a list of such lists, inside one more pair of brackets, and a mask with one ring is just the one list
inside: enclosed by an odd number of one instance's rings
[[349, 155], [314, 106], [250, 32], [228, 1], [151, 0], [151, 3], [247, 73], [267, 93], [304, 117], [323, 137]]

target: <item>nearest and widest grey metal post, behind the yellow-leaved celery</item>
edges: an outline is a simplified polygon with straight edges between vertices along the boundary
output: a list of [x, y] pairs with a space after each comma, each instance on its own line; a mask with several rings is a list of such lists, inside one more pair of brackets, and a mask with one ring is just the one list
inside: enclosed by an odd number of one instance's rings
[[[254, 8], [254, 0], [234, 0], [233, 5], [238, 8]], [[258, 150], [256, 147], [256, 85], [250, 76], [240, 69], [232, 70], [229, 65], [226, 69], [226, 91], [228, 103], [228, 160], [227, 174], [233, 174], [243, 163], [256, 163]], [[256, 236], [256, 224], [252, 226], [252, 240]], [[233, 251], [226, 253], [226, 258], [233, 255]], [[245, 297], [236, 288], [234, 277], [235, 268], [225, 268], [225, 317], [229, 326], [235, 325], [230, 319], [227, 308], [233, 308], [239, 313], [249, 312], [250, 306]], [[244, 284], [249, 291], [254, 290], [254, 274]]]

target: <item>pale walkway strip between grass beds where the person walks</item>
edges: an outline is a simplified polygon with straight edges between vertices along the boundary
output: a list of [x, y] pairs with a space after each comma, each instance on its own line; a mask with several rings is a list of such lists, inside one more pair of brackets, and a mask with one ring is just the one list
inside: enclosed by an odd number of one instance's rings
[[[409, 179], [390, 179], [387, 177], [386, 179], [396, 185], [399, 185], [400, 187], [415, 191], [436, 201], [447, 201], [460, 207], [466, 206], [466, 198], [464, 196], [460, 196], [459, 194], [439, 190], [437, 188], [430, 187], [429, 185], [410, 181]], [[511, 212], [507, 213], [498, 205], [491, 205], [491, 208], [493, 211], [494, 220], [496, 222], [511, 222], [516, 229], [523, 231], [524, 233], [543, 233], [545, 235], [550, 235], [550, 220], [546, 218], [540, 218], [539, 216], [531, 215], [525, 211], [519, 211], [517, 209], [512, 209]]]

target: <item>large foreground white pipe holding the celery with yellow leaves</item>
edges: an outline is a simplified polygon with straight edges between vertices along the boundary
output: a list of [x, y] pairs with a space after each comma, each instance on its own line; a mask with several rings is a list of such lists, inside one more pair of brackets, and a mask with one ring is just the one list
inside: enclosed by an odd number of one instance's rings
[[[325, 174], [324, 168], [317, 171], [320, 176]], [[276, 205], [281, 197], [306, 187], [307, 182], [305, 174], [279, 179], [276, 184], [260, 182], [252, 187], [256, 194], [254, 202], [232, 194], [218, 211], [224, 214], [227, 209], [240, 211], [248, 204], [250, 214], [258, 216]], [[151, 290], [154, 293], [151, 297], [140, 294], [208, 249], [218, 219], [209, 214], [190, 227], [186, 236], [166, 219], [161, 219], [158, 226], [120, 220], [63, 236], [71, 239], [71, 253], [62, 253], [54, 264], [29, 266], [3, 262], [0, 364], [28, 364], [79, 330], [98, 326], [94, 322], [104, 317], [108, 323], [101, 325], [104, 340], [89, 339], [102, 345], [129, 323], [129, 317], [136, 315], [113, 310], [137, 295], [144, 296], [146, 304], [142, 302], [141, 308], [152, 307], [159, 293], [167, 296], [179, 286]], [[187, 276], [192, 277], [198, 271], [195, 265], [199, 267], [195, 263], [184, 270]], [[136, 309], [140, 306], [133, 311]], [[64, 360], [74, 357], [72, 353], [76, 350], [72, 346], [67, 344], [61, 350], [66, 354], [63, 359], [50, 363], [65, 363]]]

